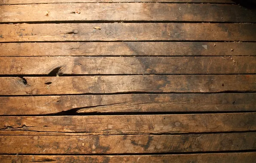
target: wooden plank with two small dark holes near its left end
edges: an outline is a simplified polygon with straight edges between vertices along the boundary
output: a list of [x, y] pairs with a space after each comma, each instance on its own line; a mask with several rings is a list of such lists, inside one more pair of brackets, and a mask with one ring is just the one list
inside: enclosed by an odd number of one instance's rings
[[256, 75], [1, 77], [0, 95], [254, 92]]

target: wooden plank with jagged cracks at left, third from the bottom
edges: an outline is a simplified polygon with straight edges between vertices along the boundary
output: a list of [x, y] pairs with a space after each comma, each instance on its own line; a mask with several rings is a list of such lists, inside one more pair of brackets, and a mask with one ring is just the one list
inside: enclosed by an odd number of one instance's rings
[[19, 132], [20, 135], [44, 135], [45, 132], [49, 135], [123, 135], [256, 131], [256, 113], [0, 117], [0, 135], [12, 135], [16, 130], [23, 131]]

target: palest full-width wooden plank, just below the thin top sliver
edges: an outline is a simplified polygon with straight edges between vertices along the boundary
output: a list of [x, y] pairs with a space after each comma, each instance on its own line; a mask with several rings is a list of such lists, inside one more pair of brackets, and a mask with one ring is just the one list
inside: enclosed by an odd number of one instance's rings
[[[34, 12], [37, 11], [37, 12]], [[47, 12], [49, 11], [49, 13]], [[48, 13], [46, 15], [46, 12]], [[256, 22], [251, 10], [233, 4], [61, 3], [0, 6], [0, 22], [203, 21]]]

